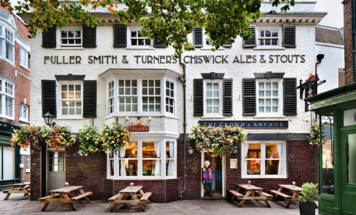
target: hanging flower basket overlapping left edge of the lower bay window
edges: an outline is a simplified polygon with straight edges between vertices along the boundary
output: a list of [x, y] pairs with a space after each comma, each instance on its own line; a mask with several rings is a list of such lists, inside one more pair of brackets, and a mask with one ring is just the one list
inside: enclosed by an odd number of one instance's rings
[[130, 132], [119, 123], [104, 125], [101, 132], [102, 146], [105, 152], [107, 149], [116, 153], [122, 147], [127, 147], [130, 142]]

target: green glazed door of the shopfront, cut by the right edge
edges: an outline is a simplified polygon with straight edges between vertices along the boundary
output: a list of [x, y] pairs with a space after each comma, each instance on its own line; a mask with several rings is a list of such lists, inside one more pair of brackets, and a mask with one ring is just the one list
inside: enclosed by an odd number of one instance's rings
[[356, 214], [356, 130], [345, 131], [342, 137], [342, 210], [344, 214]]

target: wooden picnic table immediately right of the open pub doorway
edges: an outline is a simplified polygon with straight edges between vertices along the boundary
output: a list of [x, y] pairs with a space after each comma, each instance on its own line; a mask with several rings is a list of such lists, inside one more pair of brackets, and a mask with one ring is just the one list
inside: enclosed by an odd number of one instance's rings
[[[240, 190], [244, 189], [246, 191], [245, 195], [242, 195]], [[235, 197], [238, 200], [241, 200], [240, 203], [237, 205], [237, 207], [241, 207], [246, 200], [263, 200], [264, 204], [266, 204], [267, 207], [271, 207], [270, 203], [268, 203], [268, 200], [272, 200], [273, 196], [270, 194], [266, 194], [262, 192], [263, 188], [250, 185], [250, 184], [237, 184], [237, 189], [236, 190], [229, 190], [229, 192], [232, 194], [231, 201], [235, 199]], [[257, 196], [255, 195], [257, 194]], [[251, 196], [250, 196], [251, 195]]]

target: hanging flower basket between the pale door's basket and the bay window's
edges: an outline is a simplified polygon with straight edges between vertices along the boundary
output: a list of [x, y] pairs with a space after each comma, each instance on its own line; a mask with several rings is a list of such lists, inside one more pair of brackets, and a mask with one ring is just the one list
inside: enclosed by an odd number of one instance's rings
[[94, 125], [84, 126], [84, 128], [80, 129], [79, 139], [80, 150], [78, 153], [81, 156], [87, 156], [88, 154], [93, 154], [94, 152], [106, 151], [102, 144], [101, 133]]

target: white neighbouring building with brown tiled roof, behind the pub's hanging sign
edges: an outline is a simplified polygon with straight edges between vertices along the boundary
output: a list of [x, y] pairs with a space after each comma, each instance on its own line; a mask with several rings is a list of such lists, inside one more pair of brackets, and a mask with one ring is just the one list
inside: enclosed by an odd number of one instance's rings
[[345, 85], [344, 40], [340, 29], [320, 26], [315, 28], [315, 54], [323, 55], [317, 65], [320, 81], [318, 93]]

